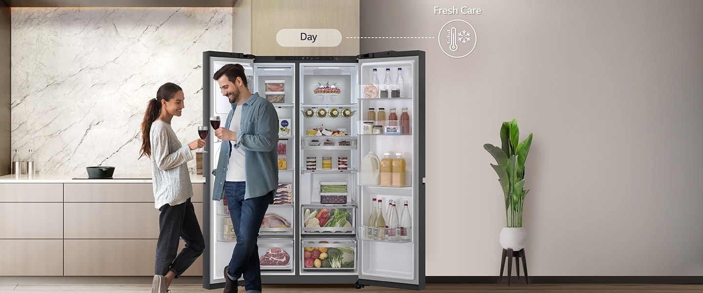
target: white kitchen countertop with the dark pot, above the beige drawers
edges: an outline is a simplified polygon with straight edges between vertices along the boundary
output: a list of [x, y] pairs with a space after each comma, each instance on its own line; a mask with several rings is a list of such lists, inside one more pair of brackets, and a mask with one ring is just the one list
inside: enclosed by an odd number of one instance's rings
[[[151, 174], [120, 174], [111, 179], [88, 179], [85, 174], [37, 174], [0, 176], [0, 183], [152, 183], [152, 180]], [[205, 177], [191, 174], [191, 183], [205, 183]]]

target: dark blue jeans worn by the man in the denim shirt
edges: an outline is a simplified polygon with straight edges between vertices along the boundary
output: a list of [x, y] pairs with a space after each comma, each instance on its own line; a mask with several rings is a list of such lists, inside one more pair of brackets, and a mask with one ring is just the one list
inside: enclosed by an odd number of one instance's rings
[[232, 217], [234, 233], [237, 236], [237, 245], [232, 252], [227, 273], [235, 280], [244, 275], [247, 291], [261, 291], [262, 274], [257, 237], [259, 237], [259, 228], [264, 221], [266, 209], [269, 209], [269, 204], [273, 203], [273, 195], [276, 190], [271, 190], [264, 196], [245, 200], [245, 188], [245, 182], [227, 181], [224, 183], [227, 207]]

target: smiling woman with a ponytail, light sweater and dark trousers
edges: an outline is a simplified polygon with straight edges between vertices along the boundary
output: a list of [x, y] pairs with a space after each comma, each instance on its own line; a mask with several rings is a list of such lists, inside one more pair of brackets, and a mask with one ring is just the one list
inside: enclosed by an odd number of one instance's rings
[[[191, 150], [202, 148], [205, 141], [196, 139], [181, 147], [171, 128], [171, 119], [181, 116], [185, 108], [183, 90], [167, 82], [149, 100], [141, 124], [141, 155], [151, 158], [155, 208], [159, 216], [159, 240], [151, 292], [165, 293], [174, 278], [193, 264], [205, 249], [205, 240], [191, 203], [193, 186], [186, 162], [193, 159]], [[193, 131], [195, 132], [195, 131]], [[178, 252], [179, 237], [186, 247]]]

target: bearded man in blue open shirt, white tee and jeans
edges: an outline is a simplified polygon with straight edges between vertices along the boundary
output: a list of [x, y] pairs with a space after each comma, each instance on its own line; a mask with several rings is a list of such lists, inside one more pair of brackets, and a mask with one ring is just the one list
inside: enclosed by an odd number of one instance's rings
[[214, 131], [222, 140], [212, 200], [226, 197], [237, 245], [224, 268], [224, 293], [237, 292], [244, 275], [247, 293], [262, 291], [259, 227], [278, 187], [278, 114], [268, 100], [247, 89], [244, 67], [224, 65], [215, 72], [220, 91], [232, 104], [224, 127]]

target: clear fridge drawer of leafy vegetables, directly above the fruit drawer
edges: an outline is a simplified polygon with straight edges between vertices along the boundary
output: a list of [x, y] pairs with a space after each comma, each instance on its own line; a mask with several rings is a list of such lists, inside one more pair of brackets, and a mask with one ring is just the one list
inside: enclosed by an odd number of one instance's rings
[[302, 206], [302, 234], [356, 234], [356, 207], [354, 206]]

